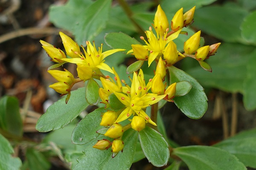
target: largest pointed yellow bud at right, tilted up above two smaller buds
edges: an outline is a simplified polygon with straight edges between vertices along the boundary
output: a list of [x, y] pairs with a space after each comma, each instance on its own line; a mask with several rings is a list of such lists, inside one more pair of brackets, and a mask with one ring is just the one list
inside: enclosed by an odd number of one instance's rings
[[184, 51], [186, 54], [192, 54], [196, 52], [200, 43], [201, 31], [196, 32], [184, 43]]

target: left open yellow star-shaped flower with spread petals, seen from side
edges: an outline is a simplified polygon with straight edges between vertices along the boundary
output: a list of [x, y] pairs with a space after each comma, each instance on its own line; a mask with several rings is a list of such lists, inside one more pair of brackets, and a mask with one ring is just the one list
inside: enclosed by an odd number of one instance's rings
[[77, 55], [79, 55], [80, 58], [64, 58], [63, 61], [67, 61], [69, 63], [76, 63], [76, 64], [84, 64], [87, 66], [90, 66], [94, 71], [97, 69], [106, 70], [108, 72], [113, 73], [112, 69], [105, 64], [105, 58], [109, 55], [112, 55], [115, 52], [125, 51], [125, 49], [111, 49], [105, 52], [102, 52], [102, 46], [99, 47], [99, 50], [97, 51], [95, 43], [93, 41], [93, 45], [90, 43], [90, 41], [86, 41], [87, 44], [87, 51], [85, 51], [84, 47], [84, 55], [80, 54], [78, 52], [75, 52]]

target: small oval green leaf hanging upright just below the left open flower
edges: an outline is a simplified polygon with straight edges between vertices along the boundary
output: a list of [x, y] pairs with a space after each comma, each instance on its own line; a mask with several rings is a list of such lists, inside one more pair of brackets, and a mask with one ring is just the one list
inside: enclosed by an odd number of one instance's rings
[[85, 87], [85, 98], [88, 104], [99, 104], [99, 84], [91, 78]]

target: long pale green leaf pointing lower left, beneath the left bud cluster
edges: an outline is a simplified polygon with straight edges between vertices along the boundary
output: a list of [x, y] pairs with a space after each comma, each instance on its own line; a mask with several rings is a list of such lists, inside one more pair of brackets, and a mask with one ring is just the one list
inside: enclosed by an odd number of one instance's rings
[[65, 98], [61, 98], [52, 104], [38, 119], [35, 128], [39, 132], [49, 132], [63, 128], [73, 121], [87, 106], [85, 88], [73, 90], [69, 102], [66, 104]]

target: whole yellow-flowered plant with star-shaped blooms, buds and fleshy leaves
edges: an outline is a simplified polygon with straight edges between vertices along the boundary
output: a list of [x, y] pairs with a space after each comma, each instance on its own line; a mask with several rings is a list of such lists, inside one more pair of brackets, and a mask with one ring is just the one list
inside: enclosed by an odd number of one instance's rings
[[[72, 142], [84, 146], [84, 154], [75, 157], [78, 163], [72, 165], [75, 170], [129, 169], [133, 162], [144, 157], [156, 167], [168, 163], [178, 167], [182, 160], [191, 170], [198, 169], [193, 163], [197, 156], [191, 156], [195, 147], [177, 147], [170, 142], [159, 112], [166, 102], [173, 102], [193, 119], [201, 118], [207, 110], [207, 96], [202, 86], [174, 66], [180, 60], [193, 58], [203, 69], [212, 72], [206, 61], [215, 55], [220, 43], [204, 46], [201, 31], [191, 36], [183, 31], [194, 22], [195, 8], [186, 12], [180, 8], [169, 23], [171, 18], [167, 18], [158, 5], [152, 25], [145, 30], [145, 35], [140, 36], [142, 43], [124, 33], [109, 33], [105, 42], [113, 48], [110, 50], [104, 50], [103, 44], [97, 47], [94, 41], [86, 41], [83, 44], [86, 47], [79, 47], [63, 32], [60, 36], [65, 52], [41, 40], [42, 47], [55, 62], [48, 72], [58, 82], [49, 87], [66, 97], [47, 109], [38, 120], [36, 129], [41, 132], [57, 130], [73, 121], [88, 105], [99, 107], [86, 115], [73, 130]], [[175, 39], [180, 35], [188, 37], [183, 46], [178, 47]], [[129, 75], [105, 62], [122, 52], [137, 59], [128, 66], [126, 73]], [[64, 63], [76, 64], [78, 78], [67, 69], [55, 70]], [[81, 81], [86, 87], [72, 90], [73, 85]], [[210, 153], [225, 155], [231, 160], [230, 166], [244, 168], [224, 150], [215, 147], [197, 149], [201, 153], [209, 150]], [[138, 155], [139, 152], [143, 154]], [[220, 163], [218, 161], [212, 158], [210, 164]], [[222, 163], [216, 168], [221, 166]]]

